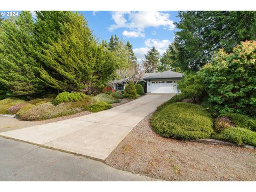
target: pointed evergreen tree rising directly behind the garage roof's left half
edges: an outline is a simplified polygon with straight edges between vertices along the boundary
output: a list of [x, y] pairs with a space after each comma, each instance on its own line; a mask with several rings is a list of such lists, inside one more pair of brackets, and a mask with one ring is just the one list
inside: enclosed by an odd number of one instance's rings
[[160, 53], [157, 51], [156, 47], [153, 46], [145, 55], [145, 60], [143, 60], [143, 67], [147, 73], [154, 73], [159, 65]]

